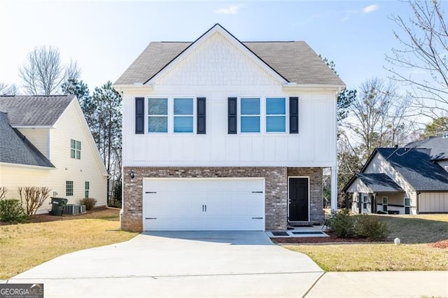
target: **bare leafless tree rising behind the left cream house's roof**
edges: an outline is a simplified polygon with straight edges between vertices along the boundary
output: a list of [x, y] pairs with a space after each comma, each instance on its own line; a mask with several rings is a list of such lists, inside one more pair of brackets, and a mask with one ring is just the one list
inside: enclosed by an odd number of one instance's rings
[[27, 62], [19, 68], [19, 76], [30, 94], [50, 95], [60, 91], [67, 78], [78, 78], [78, 64], [70, 62], [65, 67], [59, 57], [59, 50], [43, 45], [28, 53]]

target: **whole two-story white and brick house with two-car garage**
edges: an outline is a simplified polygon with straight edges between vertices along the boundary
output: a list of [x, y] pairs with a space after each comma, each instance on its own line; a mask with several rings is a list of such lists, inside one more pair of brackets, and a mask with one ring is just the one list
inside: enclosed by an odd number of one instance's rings
[[220, 24], [153, 42], [123, 95], [126, 230], [285, 230], [336, 207], [344, 83], [303, 41], [241, 42]]

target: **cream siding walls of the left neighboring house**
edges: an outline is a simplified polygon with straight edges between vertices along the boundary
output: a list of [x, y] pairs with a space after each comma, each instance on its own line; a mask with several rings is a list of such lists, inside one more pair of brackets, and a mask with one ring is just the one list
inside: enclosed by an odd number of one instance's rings
[[[0, 186], [8, 188], [7, 198], [19, 199], [18, 187], [20, 186], [45, 186], [50, 188], [49, 197], [52, 197], [53, 192], [57, 192], [57, 197], [69, 199], [68, 204], [78, 204], [84, 197], [85, 181], [89, 181], [89, 197], [97, 199], [97, 206], [106, 205], [107, 179], [97, 158], [94, 157], [94, 150], [97, 148], [92, 147], [87, 141], [91, 136], [87, 133], [82, 121], [85, 120], [78, 102], [72, 101], [55, 123], [55, 128], [48, 130], [48, 134], [42, 134], [43, 129], [24, 129], [22, 133], [27, 136], [27, 139], [34, 140], [37, 144], [43, 143], [38, 136], [48, 136], [49, 159], [55, 168], [1, 164]], [[34, 132], [36, 135], [33, 134]], [[80, 159], [70, 157], [71, 139], [81, 142]], [[73, 181], [73, 196], [66, 196], [66, 180]], [[50, 208], [50, 198], [48, 198], [38, 213], [45, 213]]]

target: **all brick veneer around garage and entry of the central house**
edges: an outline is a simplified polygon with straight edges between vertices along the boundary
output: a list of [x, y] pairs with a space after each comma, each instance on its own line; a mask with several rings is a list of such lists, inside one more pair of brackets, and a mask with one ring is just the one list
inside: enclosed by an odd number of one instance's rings
[[[130, 171], [135, 178], [131, 179]], [[297, 171], [296, 171], [297, 170]], [[322, 194], [322, 170], [314, 168], [286, 167], [125, 167], [123, 169], [123, 216], [121, 228], [126, 231], [141, 232], [143, 230], [142, 199], [143, 178], [265, 178], [265, 228], [266, 230], [285, 230], [288, 216], [288, 179], [287, 176], [310, 176], [311, 178], [311, 220], [323, 220], [322, 196], [320, 205], [318, 195]], [[291, 173], [291, 175], [289, 174]], [[300, 173], [300, 175], [299, 175]], [[319, 176], [320, 173], [320, 176]], [[311, 176], [312, 175], [312, 176]], [[314, 183], [313, 180], [316, 179]], [[317, 184], [320, 183], [320, 188]], [[318, 190], [318, 193], [315, 193]], [[314, 205], [313, 205], [314, 204]], [[321, 216], [318, 213], [320, 206]], [[316, 210], [314, 210], [316, 209]], [[314, 220], [312, 216], [318, 218]]]

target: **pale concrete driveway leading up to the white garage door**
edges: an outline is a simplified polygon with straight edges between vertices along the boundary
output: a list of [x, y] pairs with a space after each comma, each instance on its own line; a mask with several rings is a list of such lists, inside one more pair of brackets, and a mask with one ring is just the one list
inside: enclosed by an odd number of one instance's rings
[[265, 232], [153, 232], [62, 255], [8, 283], [45, 297], [302, 297], [323, 274]]

